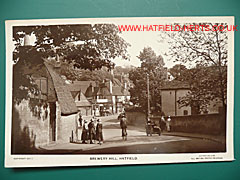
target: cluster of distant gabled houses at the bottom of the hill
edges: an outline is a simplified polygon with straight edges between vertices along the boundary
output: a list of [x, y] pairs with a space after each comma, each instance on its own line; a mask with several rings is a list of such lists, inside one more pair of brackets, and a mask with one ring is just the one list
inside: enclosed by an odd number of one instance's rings
[[130, 99], [128, 90], [117, 79], [95, 81], [74, 81], [68, 84], [75, 104], [81, 114], [102, 116], [115, 114], [124, 110], [124, 105]]

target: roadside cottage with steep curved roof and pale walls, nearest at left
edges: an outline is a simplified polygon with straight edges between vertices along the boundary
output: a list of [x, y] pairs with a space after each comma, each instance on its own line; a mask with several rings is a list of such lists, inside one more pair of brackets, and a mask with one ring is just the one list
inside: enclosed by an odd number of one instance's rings
[[[18, 153], [20, 142], [30, 141], [34, 147], [69, 142], [76, 131], [78, 109], [63, 79], [44, 60], [31, 68], [20, 61], [14, 66], [31, 76], [40, 91], [38, 95], [31, 94], [29, 99], [13, 104], [12, 153]], [[14, 80], [17, 81], [17, 77]]]

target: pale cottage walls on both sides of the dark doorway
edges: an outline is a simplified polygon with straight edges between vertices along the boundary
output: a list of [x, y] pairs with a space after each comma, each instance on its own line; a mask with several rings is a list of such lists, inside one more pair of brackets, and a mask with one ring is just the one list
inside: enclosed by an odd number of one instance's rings
[[[39, 112], [39, 109], [38, 111]], [[13, 107], [12, 113], [12, 153], [31, 153], [42, 145], [55, 142], [69, 142], [76, 139], [77, 114], [62, 116], [56, 102], [56, 141], [52, 140], [50, 130], [50, 108], [41, 107], [40, 114], [29, 108], [29, 101], [23, 100]]]

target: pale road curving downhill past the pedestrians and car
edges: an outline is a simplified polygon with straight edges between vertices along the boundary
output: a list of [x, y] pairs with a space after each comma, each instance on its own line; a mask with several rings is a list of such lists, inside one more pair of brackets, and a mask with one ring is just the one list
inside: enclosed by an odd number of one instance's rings
[[128, 126], [128, 140], [121, 138], [117, 116], [101, 118], [104, 143], [65, 143], [43, 147], [44, 154], [158, 154], [224, 152], [225, 144], [211, 140], [172, 135], [146, 136], [144, 127]]

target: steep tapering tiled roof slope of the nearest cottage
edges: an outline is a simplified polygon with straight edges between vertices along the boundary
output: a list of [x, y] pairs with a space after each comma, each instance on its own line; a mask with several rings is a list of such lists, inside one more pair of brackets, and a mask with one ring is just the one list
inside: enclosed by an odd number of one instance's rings
[[59, 76], [57, 72], [54, 71], [50, 64], [48, 64], [47, 62], [44, 62], [44, 64], [52, 78], [53, 85], [57, 94], [57, 99], [60, 104], [61, 113], [63, 115], [77, 113], [78, 109], [75, 105], [74, 99], [68, 88], [66, 88], [66, 84], [63, 79]]

